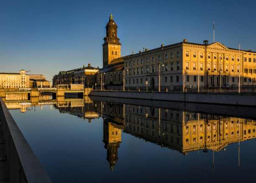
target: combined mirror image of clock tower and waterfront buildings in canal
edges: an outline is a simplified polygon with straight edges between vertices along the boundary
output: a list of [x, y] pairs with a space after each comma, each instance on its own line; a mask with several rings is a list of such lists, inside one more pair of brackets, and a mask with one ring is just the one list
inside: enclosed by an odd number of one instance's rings
[[88, 119], [89, 123], [94, 118], [103, 118], [103, 142], [112, 172], [118, 161], [122, 131], [183, 155], [195, 150], [205, 153], [212, 150], [213, 165], [214, 152], [256, 135], [256, 120], [245, 118], [92, 101], [90, 98], [84, 103], [67, 101], [65, 106], [54, 107], [60, 113]]

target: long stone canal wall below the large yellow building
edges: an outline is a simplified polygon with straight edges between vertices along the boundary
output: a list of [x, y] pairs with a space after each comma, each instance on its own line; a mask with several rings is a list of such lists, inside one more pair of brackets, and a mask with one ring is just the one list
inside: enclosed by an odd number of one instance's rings
[[184, 103], [203, 103], [217, 105], [256, 106], [256, 93], [196, 93], [196, 92], [151, 92], [151, 91], [111, 91], [92, 90], [90, 96], [112, 98], [131, 98], [143, 100], [160, 100]]

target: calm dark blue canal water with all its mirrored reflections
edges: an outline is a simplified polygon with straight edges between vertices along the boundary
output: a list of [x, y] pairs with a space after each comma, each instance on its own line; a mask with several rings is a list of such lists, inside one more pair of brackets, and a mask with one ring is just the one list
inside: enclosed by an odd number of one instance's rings
[[54, 183], [255, 180], [256, 120], [243, 110], [118, 100], [5, 102]]

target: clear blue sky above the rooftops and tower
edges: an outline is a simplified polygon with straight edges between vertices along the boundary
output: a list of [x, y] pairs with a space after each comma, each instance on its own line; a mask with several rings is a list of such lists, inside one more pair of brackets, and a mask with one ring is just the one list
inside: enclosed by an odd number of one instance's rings
[[112, 10], [121, 55], [187, 38], [256, 51], [255, 0], [0, 0], [0, 72], [31, 70], [51, 80], [60, 70], [102, 67]]

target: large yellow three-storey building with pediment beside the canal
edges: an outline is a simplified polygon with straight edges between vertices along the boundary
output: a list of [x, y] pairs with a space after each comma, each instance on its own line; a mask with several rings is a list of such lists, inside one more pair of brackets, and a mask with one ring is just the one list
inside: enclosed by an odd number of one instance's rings
[[[239, 59], [239, 55], [240, 58]], [[183, 42], [139, 52], [124, 58], [125, 86], [134, 90], [159, 88], [252, 87], [256, 78], [256, 52], [227, 48], [216, 42]], [[239, 61], [240, 60], [240, 61]], [[240, 62], [240, 65], [239, 65]], [[240, 67], [240, 68], [239, 68]]]

